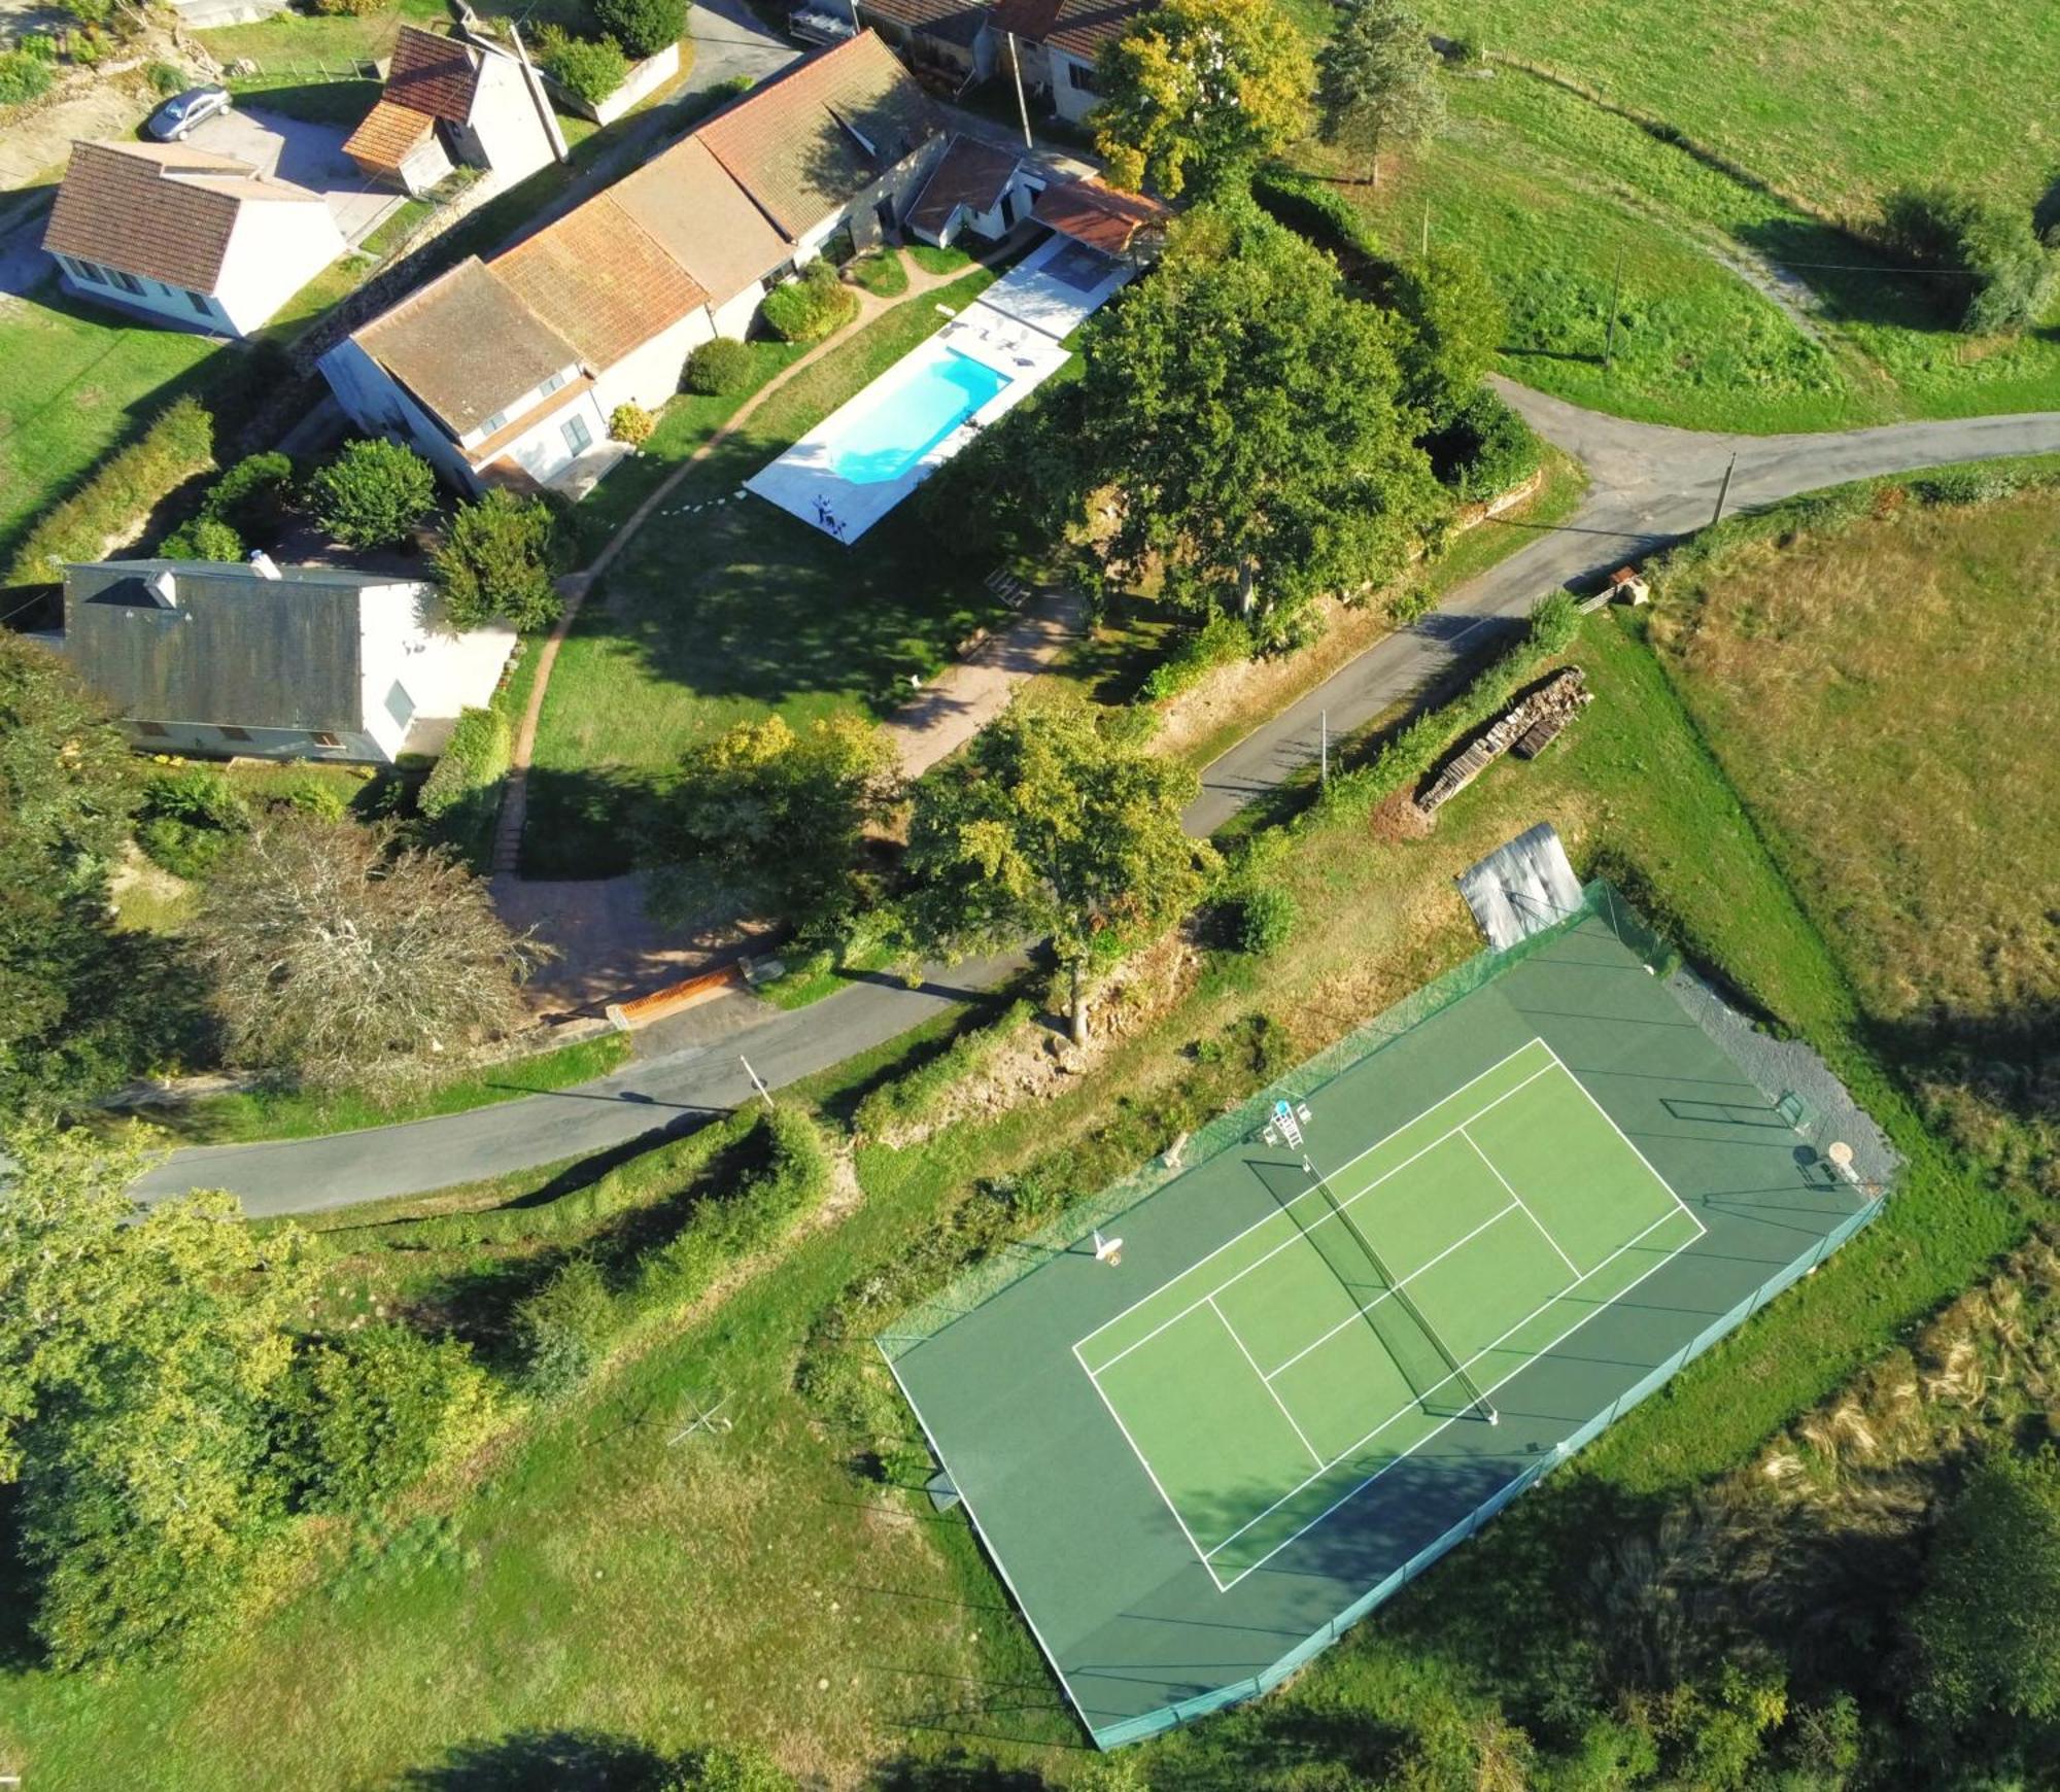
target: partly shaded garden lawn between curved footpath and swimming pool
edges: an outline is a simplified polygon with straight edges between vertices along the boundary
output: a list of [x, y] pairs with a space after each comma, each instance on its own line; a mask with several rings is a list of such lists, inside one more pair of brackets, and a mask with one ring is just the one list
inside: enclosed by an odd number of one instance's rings
[[[789, 379], [608, 571], [544, 696], [523, 834], [531, 875], [626, 869], [639, 801], [690, 742], [768, 713], [882, 715], [991, 616], [978, 571], [939, 562], [917, 503], [847, 548], [742, 486], [937, 330], [939, 301], [962, 307], [991, 280], [978, 270], [896, 305]], [[707, 422], [682, 422], [680, 445]]]

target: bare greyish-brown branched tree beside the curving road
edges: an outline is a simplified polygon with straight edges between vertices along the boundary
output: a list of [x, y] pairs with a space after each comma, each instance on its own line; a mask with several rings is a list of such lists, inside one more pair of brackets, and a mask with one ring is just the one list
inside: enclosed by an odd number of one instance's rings
[[449, 1063], [519, 1026], [515, 991], [550, 956], [441, 849], [313, 820], [251, 834], [192, 941], [231, 1059], [323, 1088]]

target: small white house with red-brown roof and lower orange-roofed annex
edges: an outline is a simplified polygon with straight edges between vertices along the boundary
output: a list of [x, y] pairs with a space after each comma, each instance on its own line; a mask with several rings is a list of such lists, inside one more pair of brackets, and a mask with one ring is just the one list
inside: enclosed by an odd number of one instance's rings
[[513, 183], [564, 161], [566, 148], [519, 37], [496, 43], [402, 25], [385, 91], [344, 142], [344, 154], [375, 181], [420, 194], [453, 163], [492, 169]]

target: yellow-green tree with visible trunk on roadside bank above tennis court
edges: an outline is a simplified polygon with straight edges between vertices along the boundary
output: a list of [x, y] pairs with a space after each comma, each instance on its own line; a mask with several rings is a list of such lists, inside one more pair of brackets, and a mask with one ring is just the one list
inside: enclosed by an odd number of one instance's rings
[[1180, 828], [1197, 789], [1187, 766], [1147, 750], [1135, 717], [1018, 698], [915, 787], [917, 945], [958, 958], [1049, 937], [1086, 1040], [1094, 972], [1184, 915], [1215, 865]]

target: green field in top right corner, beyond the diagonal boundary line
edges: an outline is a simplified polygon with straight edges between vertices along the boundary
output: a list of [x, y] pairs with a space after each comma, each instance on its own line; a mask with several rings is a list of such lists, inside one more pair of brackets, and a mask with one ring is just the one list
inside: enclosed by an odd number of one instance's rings
[[2060, 171], [2060, 0], [1432, 0], [1423, 16], [1664, 117], [1840, 216], [1938, 179], [2031, 206]]

